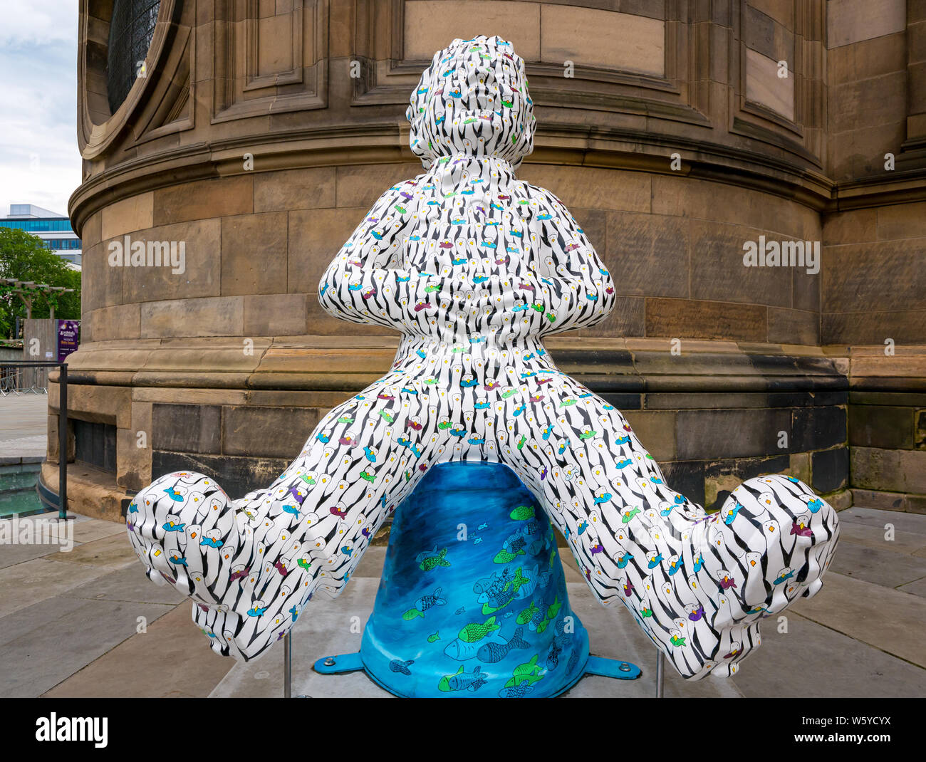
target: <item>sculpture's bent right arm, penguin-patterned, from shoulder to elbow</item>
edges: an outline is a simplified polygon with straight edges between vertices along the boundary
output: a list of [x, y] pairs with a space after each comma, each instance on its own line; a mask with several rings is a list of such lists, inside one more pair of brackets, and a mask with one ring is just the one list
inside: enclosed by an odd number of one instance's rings
[[[537, 259], [536, 301], [556, 319], [544, 334], [585, 328], [607, 318], [614, 306], [614, 283], [582, 228], [556, 195], [532, 186]], [[532, 242], [533, 243], [533, 242]]]

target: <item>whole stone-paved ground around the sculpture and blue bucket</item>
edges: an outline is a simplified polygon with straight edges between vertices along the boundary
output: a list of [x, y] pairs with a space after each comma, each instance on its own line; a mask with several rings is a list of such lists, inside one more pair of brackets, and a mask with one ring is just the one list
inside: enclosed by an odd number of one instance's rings
[[[667, 668], [667, 696], [926, 695], [926, 516], [850, 508], [840, 518], [843, 539], [820, 593], [783, 621], [764, 622], [761, 647], [732, 680], [685, 682]], [[70, 553], [0, 545], [0, 695], [282, 695], [282, 647], [250, 664], [216, 656], [190, 603], [144, 577], [124, 527], [78, 518], [73, 532]], [[299, 618], [294, 694], [385, 695], [362, 673], [311, 669], [359, 646], [356, 622], [372, 609], [384, 552], [370, 548], [340, 598], [320, 596]], [[653, 695], [652, 644], [626, 611], [598, 606], [571, 564], [566, 570], [593, 653], [644, 669], [637, 681], [585, 678], [569, 696]]]

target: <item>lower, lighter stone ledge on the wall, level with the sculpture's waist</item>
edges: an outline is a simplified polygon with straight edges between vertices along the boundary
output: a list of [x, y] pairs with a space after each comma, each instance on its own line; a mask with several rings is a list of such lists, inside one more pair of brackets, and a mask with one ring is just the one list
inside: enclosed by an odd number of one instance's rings
[[[557, 365], [598, 393], [815, 392], [848, 388], [845, 363], [816, 347], [668, 339], [551, 338]], [[74, 383], [198, 389], [354, 392], [387, 372], [397, 338], [299, 336], [112, 341], [81, 344], [69, 358]]]

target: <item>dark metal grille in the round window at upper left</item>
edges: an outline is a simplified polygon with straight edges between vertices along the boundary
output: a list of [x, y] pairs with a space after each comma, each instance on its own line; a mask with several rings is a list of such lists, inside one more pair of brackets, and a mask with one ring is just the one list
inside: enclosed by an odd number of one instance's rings
[[115, 0], [113, 3], [106, 54], [106, 89], [109, 110], [113, 114], [138, 77], [139, 67], [155, 34], [160, 6], [161, 0]]

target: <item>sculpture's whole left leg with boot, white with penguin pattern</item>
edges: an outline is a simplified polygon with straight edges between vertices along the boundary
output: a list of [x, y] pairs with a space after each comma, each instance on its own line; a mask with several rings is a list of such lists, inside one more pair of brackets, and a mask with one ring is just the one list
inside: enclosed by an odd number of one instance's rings
[[335, 407], [266, 490], [232, 504], [210, 478], [181, 472], [136, 495], [136, 553], [149, 577], [194, 599], [213, 650], [254, 658], [313, 593], [340, 593], [382, 520], [441, 456], [430, 437], [426, 447], [407, 435], [409, 417], [427, 410], [391, 381]]

